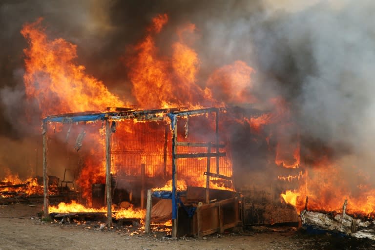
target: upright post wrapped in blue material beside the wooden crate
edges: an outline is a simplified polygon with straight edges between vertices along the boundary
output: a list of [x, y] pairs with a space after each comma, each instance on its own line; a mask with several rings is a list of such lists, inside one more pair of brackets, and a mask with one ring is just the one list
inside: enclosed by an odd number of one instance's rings
[[[171, 127], [173, 129], [172, 134], [172, 214], [174, 213], [173, 204], [176, 203], [176, 193], [177, 193], [177, 117], [174, 116], [171, 121]], [[177, 238], [177, 214], [176, 218], [172, 219], [172, 237]]]

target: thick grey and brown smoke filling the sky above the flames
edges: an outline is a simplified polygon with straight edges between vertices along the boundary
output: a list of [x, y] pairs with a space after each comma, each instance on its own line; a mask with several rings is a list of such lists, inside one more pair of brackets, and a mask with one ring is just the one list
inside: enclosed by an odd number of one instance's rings
[[196, 24], [199, 39], [192, 47], [201, 60], [202, 87], [215, 69], [242, 60], [255, 69], [253, 95], [264, 100], [258, 106], [269, 106], [267, 100], [277, 96], [291, 104], [307, 163], [323, 153], [369, 169], [375, 146], [375, 3], [300, 2], [2, 1], [0, 41], [7, 49], [0, 52], [0, 132], [21, 138], [27, 134], [21, 122], [39, 123], [39, 117], [20, 119], [26, 115], [23, 23], [44, 17], [51, 38], [77, 44], [79, 63], [87, 72], [129, 100], [131, 83], [122, 62], [127, 48], [142, 39], [155, 15], [167, 13], [158, 45], [167, 51], [176, 27]]

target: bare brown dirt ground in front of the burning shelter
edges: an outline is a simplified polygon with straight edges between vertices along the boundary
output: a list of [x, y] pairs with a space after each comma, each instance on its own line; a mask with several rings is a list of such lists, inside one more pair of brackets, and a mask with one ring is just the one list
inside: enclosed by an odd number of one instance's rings
[[146, 235], [137, 225], [108, 229], [101, 222], [43, 222], [38, 217], [41, 210], [42, 204], [0, 206], [0, 250], [375, 249], [371, 240], [311, 235], [290, 226], [257, 226], [203, 239], [172, 239], [165, 232]]

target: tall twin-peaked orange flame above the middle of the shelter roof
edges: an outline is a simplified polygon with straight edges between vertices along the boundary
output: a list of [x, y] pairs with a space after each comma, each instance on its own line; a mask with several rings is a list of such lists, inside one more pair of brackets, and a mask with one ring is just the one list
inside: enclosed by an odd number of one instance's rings
[[153, 19], [146, 38], [134, 48], [137, 55], [127, 63], [138, 105], [141, 108], [197, 107], [202, 101], [210, 101], [209, 90], [203, 90], [196, 83], [198, 55], [181, 35], [194, 32], [195, 26], [188, 24], [179, 31], [180, 41], [172, 44], [172, 56], [168, 58], [160, 56], [155, 45], [155, 36], [166, 23], [166, 14]]

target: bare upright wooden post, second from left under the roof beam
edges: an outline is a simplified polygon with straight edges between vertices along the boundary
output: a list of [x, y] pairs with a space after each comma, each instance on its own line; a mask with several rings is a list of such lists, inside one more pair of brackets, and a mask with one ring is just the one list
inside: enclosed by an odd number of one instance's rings
[[105, 120], [105, 190], [107, 197], [107, 226], [112, 227], [112, 190], [111, 190], [111, 126]]

